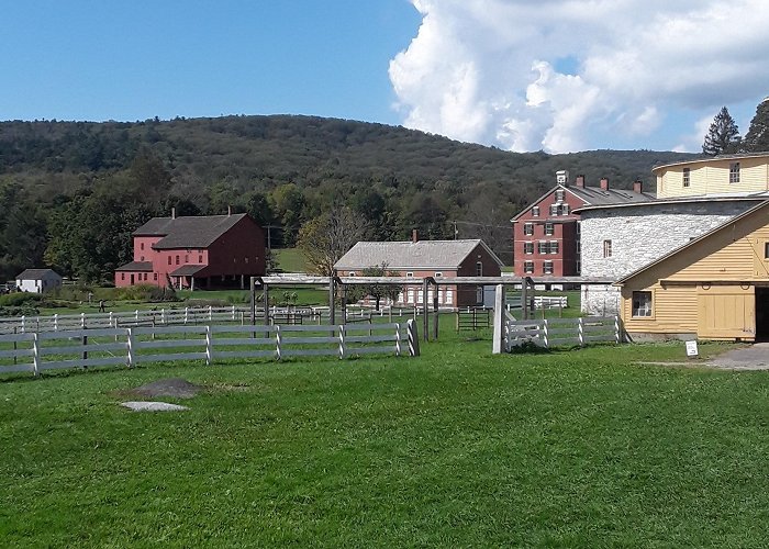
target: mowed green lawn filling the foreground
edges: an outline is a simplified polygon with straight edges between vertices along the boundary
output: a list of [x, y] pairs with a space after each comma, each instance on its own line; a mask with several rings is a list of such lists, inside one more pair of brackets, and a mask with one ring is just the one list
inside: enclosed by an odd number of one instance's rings
[[[704, 346], [713, 352], [715, 346]], [[769, 373], [681, 345], [0, 380], [3, 547], [759, 547]], [[119, 406], [204, 385], [187, 412]]]

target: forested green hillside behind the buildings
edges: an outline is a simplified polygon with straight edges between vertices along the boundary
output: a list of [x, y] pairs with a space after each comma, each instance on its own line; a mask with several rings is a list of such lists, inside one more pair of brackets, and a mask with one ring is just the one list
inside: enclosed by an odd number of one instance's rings
[[367, 237], [482, 237], [510, 257], [510, 223], [555, 171], [651, 184], [650, 169], [692, 155], [599, 150], [514, 154], [381, 124], [312, 116], [135, 123], [0, 123], [0, 276], [53, 265], [88, 280], [130, 260], [153, 215], [248, 212], [272, 247], [348, 208]]

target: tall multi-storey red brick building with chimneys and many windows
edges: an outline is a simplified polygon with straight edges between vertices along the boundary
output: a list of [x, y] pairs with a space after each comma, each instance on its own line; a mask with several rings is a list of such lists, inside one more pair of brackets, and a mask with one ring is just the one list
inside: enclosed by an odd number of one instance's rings
[[610, 189], [603, 178], [599, 187], [587, 187], [584, 176], [569, 181], [568, 171], [556, 172], [556, 186], [523, 210], [513, 222], [513, 271], [516, 277], [576, 277], [580, 274], [579, 214], [587, 205], [647, 202], [642, 182], [633, 190]]

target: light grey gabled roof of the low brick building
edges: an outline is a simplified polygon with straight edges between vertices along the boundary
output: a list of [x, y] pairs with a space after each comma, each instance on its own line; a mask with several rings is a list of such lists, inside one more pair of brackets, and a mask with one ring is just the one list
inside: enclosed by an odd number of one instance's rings
[[389, 269], [456, 269], [482, 246], [502, 266], [483, 240], [359, 242], [336, 264], [335, 269], [365, 269], [387, 264]]

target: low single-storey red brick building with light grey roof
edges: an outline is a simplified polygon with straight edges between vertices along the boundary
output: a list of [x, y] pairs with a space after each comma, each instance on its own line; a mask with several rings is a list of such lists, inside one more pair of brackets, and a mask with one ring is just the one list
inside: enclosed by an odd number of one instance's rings
[[[335, 265], [338, 277], [361, 276], [364, 269], [387, 265], [399, 277], [452, 279], [457, 277], [499, 277], [502, 261], [483, 240], [359, 242]], [[433, 302], [433, 289], [427, 303]], [[405, 285], [395, 304], [424, 303], [422, 284]], [[441, 284], [438, 305], [444, 307], [483, 304], [483, 287]]]

